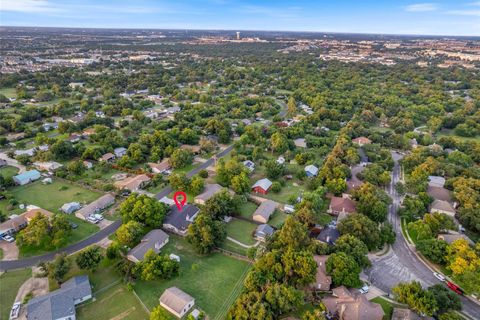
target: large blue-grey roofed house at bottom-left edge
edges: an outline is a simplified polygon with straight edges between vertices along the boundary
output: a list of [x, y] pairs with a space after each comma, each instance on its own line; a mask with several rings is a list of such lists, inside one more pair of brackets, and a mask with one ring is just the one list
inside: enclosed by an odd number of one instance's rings
[[75, 320], [75, 306], [92, 298], [88, 276], [76, 276], [60, 289], [35, 297], [27, 303], [28, 320]]

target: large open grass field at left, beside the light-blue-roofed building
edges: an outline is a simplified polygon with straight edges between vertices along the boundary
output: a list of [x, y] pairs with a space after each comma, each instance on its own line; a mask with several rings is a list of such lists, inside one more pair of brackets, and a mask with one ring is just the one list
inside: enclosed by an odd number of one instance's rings
[[36, 181], [10, 190], [20, 203], [34, 204], [40, 208], [60, 212], [59, 208], [67, 202], [77, 201], [88, 204], [100, 197], [100, 193], [81, 188], [77, 185], [54, 180], [44, 185]]

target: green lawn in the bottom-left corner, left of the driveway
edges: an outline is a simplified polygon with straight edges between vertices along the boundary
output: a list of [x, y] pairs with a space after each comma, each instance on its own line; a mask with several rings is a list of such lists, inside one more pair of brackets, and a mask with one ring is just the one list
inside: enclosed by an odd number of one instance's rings
[[18, 289], [32, 276], [32, 269], [8, 271], [0, 276], [0, 319], [8, 319]]

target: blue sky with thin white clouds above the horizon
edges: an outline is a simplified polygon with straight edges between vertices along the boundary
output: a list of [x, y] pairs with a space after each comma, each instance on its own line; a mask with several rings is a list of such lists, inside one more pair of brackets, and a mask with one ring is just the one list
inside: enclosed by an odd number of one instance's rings
[[0, 25], [480, 36], [480, 1], [0, 0]]

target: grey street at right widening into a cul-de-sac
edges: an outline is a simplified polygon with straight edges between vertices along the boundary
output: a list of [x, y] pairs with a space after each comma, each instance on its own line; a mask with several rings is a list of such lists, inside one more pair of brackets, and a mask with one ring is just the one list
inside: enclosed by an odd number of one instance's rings
[[[399, 282], [412, 280], [420, 281], [424, 286], [431, 286], [440, 281], [435, 278], [432, 271], [413, 253], [413, 247], [402, 234], [401, 221], [397, 210], [401, 204], [401, 197], [395, 190], [395, 184], [400, 180], [400, 165], [398, 161], [402, 155], [392, 152], [395, 166], [392, 171], [392, 181], [388, 193], [393, 200], [389, 208], [389, 221], [392, 223], [397, 240], [389, 254], [372, 261], [372, 267], [366, 270], [368, 280], [385, 292], [391, 292], [392, 287]], [[480, 319], [480, 306], [465, 297], [460, 297], [463, 312], [472, 319]]]

